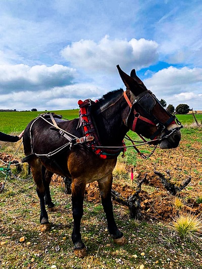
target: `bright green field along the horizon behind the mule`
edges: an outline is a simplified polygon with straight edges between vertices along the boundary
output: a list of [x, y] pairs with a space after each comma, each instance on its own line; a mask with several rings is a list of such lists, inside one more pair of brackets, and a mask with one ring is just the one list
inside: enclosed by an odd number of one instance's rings
[[[63, 115], [66, 119], [73, 119], [78, 117], [78, 109], [72, 110], [57, 110], [52, 111], [56, 114]], [[22, 131], [27, 124], [38, 116], [41, 112], [39, 111], [22, 111], [22, 112], [0, 112], [0, 122], [1, 128], [0, 131], [6, 133], [14, 133]], [[202, 122], [202, 114], [196, 114], [196, 119], [199, 123]], [[178, 119], [182, 124], [192, 124], [194, 122], [192, 114], [188, 115], [177, 115]]]

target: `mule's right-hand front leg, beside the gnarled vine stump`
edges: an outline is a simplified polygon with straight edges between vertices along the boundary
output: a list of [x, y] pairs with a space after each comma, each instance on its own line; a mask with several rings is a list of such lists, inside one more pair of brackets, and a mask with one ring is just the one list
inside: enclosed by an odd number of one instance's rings
[[115, 243], [117, 243], [118, 245], [124, 245], [126, 244], [126, 239], [123, 236], [123, 233], [117, 228], [114, 219], [113, 205], [111, 199], [112, 180], [112, 174], [99, 180], [99, 191], [102, 198], [103, 208], [107, 217], [109, 233], [113, 236]]

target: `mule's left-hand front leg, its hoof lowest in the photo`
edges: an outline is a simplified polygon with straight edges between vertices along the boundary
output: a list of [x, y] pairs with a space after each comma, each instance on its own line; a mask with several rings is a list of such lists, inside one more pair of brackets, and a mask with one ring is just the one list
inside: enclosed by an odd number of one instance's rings
[[86, 184], [81, 180], [72, 181], [72, 213], [74, 219], [74, 228], [72, 232], [72, 242], [74, 244], [74, 253], [79, 258], [86, 256], [86, 248], [81, 240], [80, 225], [83, 216], [83, 198]]

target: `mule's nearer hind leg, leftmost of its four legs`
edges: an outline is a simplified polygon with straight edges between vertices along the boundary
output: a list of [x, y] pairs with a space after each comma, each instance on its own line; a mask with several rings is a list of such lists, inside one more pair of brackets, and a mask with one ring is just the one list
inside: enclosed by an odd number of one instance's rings
[[42, 165], [38, 159], [35, 159], [30, 163], [34, 182], [36, 184], [36, 193], [40, 200], [40, 223], [42, 225], [41, 230], [49, 229], [49, 221], [47, 211], [45, 210], [45, 188], [42, 179]]

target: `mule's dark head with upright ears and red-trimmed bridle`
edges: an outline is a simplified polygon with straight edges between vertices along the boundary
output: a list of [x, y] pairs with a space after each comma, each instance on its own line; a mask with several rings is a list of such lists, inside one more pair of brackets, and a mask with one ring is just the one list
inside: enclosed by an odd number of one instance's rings
[[[138, 135], [160, 144], [161, 149], [176, 148], [181, 139], [179, 123], [174, 115], [166, 111], [156, 96], [147, 90], [133, 69], [130, 76], [117, 65], [126, 86], [124, 97], [128, 110], [124, 115], [125, 124]], [[180, 126], [176, 123], [176, 121]]]

